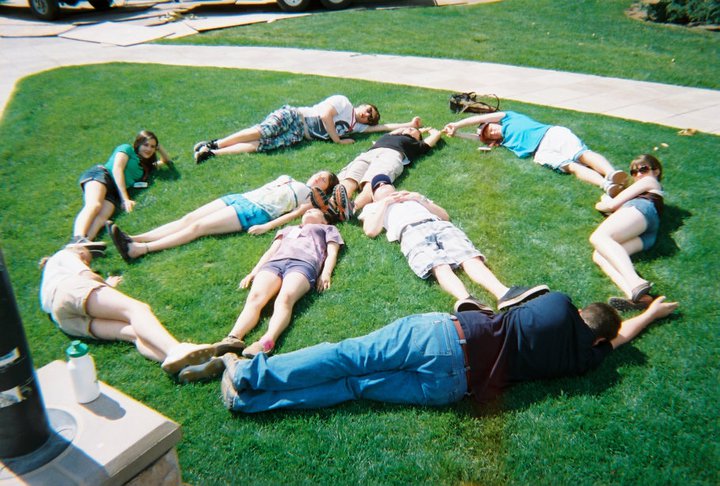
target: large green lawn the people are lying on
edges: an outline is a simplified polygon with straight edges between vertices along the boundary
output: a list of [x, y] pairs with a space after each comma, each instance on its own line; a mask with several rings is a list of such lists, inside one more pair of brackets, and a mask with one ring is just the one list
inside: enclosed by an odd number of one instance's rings
[[[439, 10], [439, 9], [438, 9]], [[218, 89], [218, 87], [224, 87]], [[338, 171], [376, 136], [354, 145], [306, 144], [196, 166], [191, 147], [258, 121], [283, 103], [344, 93], [378, 104], [386, 121], [414, 114], [452, 120], [448, 93], [376, 83], [243, 70], [132, 64], [64, 68], [24, 80], [0, 124], [0, 246], [35, 365], [64, 359], [69, 339], [39, 309], [36, 262], [69, 238], [81, 206], [79, 174], [141, 128], [155, 130], [179, 174], [160, 174], [116, 221], [139, 232], [218, 196], [281, 173]], [[189, 93], [202, 93], [194, 96]], [[413, 102], [407, 103], [409, 98]], [[501, 401], [430, 409], [356, 402], [331, 409], [229, 414], [217, 382], [182, 386], [125, 343], [91, 343], [100, 379], [182, 424], [178, 451], [190, 484], [717, 484], [717, 137], [589, 114], [504, 102], [573, 128], [625, 167], [652, 151], [665, 164], [667, 213], [656, 247], [637, 259], [679, 312], [577, 379], [530, 383]], [[485, 154], [451, 139], [399, 181], [445, 207], [508, 284], [541, 283], [577, 304], [618, 292], [591, 262], [587, 238], [602, 220], [599, 191], [505, 150]], [[450, 310], [452, 299], [417, 279], [397, 244], [340, 228], [332, 288], [309, 295], [278, 343], [284, 353], [365, 334], [411, 313]], [[107, 241], [107, 238], [104, 238]], [[147, 301], [179, 339], [212, 342], [247, 295], [239, 280], [272, 234], [205, 238], [127, 265], [114, 249], [97, 262], [121, 289]], [[490, 296], [476, 286], [480, 297]], [[259, 337], [263, 319], [250, 339]]]

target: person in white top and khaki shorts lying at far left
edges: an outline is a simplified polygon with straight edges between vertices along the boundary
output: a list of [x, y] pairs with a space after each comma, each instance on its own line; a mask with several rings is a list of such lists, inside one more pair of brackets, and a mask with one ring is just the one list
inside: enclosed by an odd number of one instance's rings
[[91, 261], [87, 248], [70, 247], [40, 262], [40, 306], [65, 334], [131, 342], [170, 375], [213, 356], [210, 344], [179, 343], [150, 306], [114, 288], [122, 277], [103, 279]]

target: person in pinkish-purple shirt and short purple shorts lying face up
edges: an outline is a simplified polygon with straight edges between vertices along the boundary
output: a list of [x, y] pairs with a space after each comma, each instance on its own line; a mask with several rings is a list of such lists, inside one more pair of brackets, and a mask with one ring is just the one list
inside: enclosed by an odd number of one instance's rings
[[[329, 225], [325, 215], [315, 208], [303, 215], [301, 225], [278, 231], [268, 251], [240, 282], [240, 287], [244, 289], [252, 283], [250, 294], [228, 336], [214, 344], [215, 355], [234, 352], [252, 358], [258, 353], [271, 353], [290, 324], [295, 303], [313, 287], [318, 292], [330, 288], [332, 272], [343, 244], [337, 228]], [[257, 326], [260, 313], [273, 297], [275, 304], [267, 332], [246, 348], [243, 339]], [[223, 368], [222, 360], [213, 358], [204, 364], [188, 366], [179, 378], [181, 381], [212, 378]]]

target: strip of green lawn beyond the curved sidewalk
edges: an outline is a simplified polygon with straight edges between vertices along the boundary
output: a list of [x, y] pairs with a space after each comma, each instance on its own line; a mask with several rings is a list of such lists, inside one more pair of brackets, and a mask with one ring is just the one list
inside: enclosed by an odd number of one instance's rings
[[348, 10], [168, 43], [305, 47], [431, 56], [720, 88], [716, 32], [633, 20], [633, 0], [503, 0]]

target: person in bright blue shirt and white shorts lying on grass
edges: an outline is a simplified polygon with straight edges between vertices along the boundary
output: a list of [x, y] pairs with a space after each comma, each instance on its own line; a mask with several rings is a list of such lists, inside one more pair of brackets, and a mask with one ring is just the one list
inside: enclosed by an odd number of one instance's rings
[[568, 128], [546, 125], [514, 111], [475, 115], [445, 125], [448, 136], [459, 128], [478, 125], [479, 139], [494, 147], [502, 145], [520, 158], [533, 160], [561, 174], [603, 189], [611, 197], [622, 191], [627, 174], [615, 170], [608, 160], [593, 152]]

